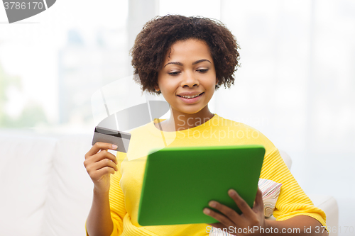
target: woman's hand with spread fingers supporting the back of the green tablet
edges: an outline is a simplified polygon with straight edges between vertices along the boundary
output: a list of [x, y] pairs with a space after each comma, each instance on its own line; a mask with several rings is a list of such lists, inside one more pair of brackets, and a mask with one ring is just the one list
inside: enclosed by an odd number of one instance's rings
[[[239, 196], [236, 191], [230, 189], [229, 196], [236, 202], [236, 206], [241, 210], [241, 215], [235, 210], [224, 206], [217, 201], [210, 201], [209, 206], [219, 210], [224, 215], [215, 212], [209, 208], [204, 208], [203, 212], [206, 215], [218, 220], [219, 223], [209, 224], [213, 227], [226, 229], [232, 235], [258, 235], [260, 228], [266, 227], [266, 220], [264, 217], [263, 196], [261, 190], [258, 189], [253, 208], [250, 208], [248, 203]], [[253, 230], [253, 229], [258, 230]]]

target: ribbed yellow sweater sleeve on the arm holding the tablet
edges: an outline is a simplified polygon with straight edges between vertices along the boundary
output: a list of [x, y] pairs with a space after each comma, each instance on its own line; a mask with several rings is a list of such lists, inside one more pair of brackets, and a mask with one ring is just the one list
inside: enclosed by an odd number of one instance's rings
[[265, 157], [261, 169], [261, 178], [271, 179], [282, 184], [280, 196], [273, 211], [276, 220], [287, 220], [295, 215], [308, 215], [326, 226], [324, 211], [316, 208], [298, 185], [285, 162], [283, 162], [277, 148], [274, 148]]

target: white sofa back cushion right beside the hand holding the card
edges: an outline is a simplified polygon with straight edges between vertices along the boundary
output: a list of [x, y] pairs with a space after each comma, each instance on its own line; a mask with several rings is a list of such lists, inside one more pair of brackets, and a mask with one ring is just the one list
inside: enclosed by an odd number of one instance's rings
[[43, 236], [85, 235], [85, 220], [92, 205], [93, 183], [84, 167], [92, 135], [58, 139], [53, 158]]

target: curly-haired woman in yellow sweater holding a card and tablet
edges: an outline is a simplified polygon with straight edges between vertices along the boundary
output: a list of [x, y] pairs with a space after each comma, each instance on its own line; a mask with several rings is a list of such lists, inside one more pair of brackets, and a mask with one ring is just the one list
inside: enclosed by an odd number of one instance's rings
[[[239, 66], [238, 49], [230, 31], [209, 18], [173, 15], [146, 23], [132, 48], [132, 65], [143, 91], [163, 94], [170, 103], [170, 118], [154, 120], [133, 130], [127, 154], [118, 152], [116, 158], [107, 152], [116, 149], [114, 145], [99, 142], [87, 152], [84, 166], [94, 182], [94, 199], [86, 223], [88, 235], [208, 235], [211, 227], [206, 224], [138, 225], [146, 156], [134, 160], [129, 157], [133, 157], [135, 150], [152, 148], [161, 134], [171, 141], [169, 146], [261, 144], [266, 147], [261, 178], [283, 184], [273, 213], [278, 221], [264, 218], [260, 190], [253, 208], [230, 190], [229, 196], [243, 213], [239, 215], [211, 201], [209, 206], [224, 213], [204, 209], [205, 214], [219, 220], [220, 223], [212, 224], [214, 227], [232, 227], [235, 233], [253, 227], [277, 228], [281, 233], [285, 231], [283, 228], [298, 227], [300, 231], [295, 235], [327, 235], [322, 230], [324, 212], [315, 208], [300, 189], [273, 143], [258, 130], [209, 111], [208, 103], [215, 89], [234, 83], [233, 74]], [[306, 233], [305, 227], [311, 227], [312, 233]], [[263, 235], [245, 231], [241, 235]]]

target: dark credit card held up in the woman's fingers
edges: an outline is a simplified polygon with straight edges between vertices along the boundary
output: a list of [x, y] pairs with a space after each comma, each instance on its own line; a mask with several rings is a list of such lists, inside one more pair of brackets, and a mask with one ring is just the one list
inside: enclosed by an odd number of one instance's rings
[[108, 128], [95, 127], [92, 145], [97, 142], [107, 142], [117, 146], [116, 151], [126, 152], [129, 150], [129, 141], [131, 140], [130, 133], [124, 133]]

